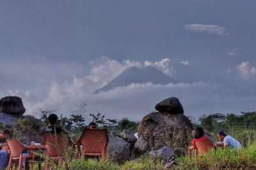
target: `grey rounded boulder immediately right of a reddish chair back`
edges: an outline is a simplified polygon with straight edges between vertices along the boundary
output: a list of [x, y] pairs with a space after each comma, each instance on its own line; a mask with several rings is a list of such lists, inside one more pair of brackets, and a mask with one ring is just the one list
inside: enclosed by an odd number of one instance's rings
[[124, 162], [132, 155], [132, 145], [117, 135], [108, 135], [108, 155], [113, 161]]

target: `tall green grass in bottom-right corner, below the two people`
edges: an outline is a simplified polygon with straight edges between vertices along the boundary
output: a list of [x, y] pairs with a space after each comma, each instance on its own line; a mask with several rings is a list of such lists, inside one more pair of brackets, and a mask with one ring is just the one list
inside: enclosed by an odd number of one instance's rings
[[241, 150], [217, 149], [200, 157], [180, 157], [175, 169], [256, 169], [256, 143]]

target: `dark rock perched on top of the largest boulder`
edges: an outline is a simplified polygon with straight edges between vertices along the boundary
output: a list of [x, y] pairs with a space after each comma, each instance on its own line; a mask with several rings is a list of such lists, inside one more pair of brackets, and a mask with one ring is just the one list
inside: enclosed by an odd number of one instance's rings
[[180, 104], [179, 98], [170, 97], [159, 102], [156, 105], [156, 110], [159, 112], [168, 112], [170, 114], [183, 114], [184, 110]]

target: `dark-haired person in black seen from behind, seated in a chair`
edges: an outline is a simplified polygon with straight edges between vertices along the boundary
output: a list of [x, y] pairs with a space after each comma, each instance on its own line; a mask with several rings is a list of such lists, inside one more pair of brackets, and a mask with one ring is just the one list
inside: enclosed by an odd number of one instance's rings
[[57, 125], [58, 123], [58, 116], [56, 114], [50, 114], [48, 116], [48, 126], [41, 128], [41, 135], [44, 134], [61, 134], [62, 128]]

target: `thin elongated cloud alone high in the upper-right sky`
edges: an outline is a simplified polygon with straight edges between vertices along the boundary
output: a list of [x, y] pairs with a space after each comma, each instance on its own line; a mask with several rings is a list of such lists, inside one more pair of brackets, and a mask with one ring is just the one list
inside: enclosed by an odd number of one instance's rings
[[193, 31], [197, 33], [206, 33], [209, 35], [225, 36], [229, 35], [229, 29], [218, 26], [218, 25], [207, 25], [207, 24], [189, 24], [185, 26], [188, 31]]

